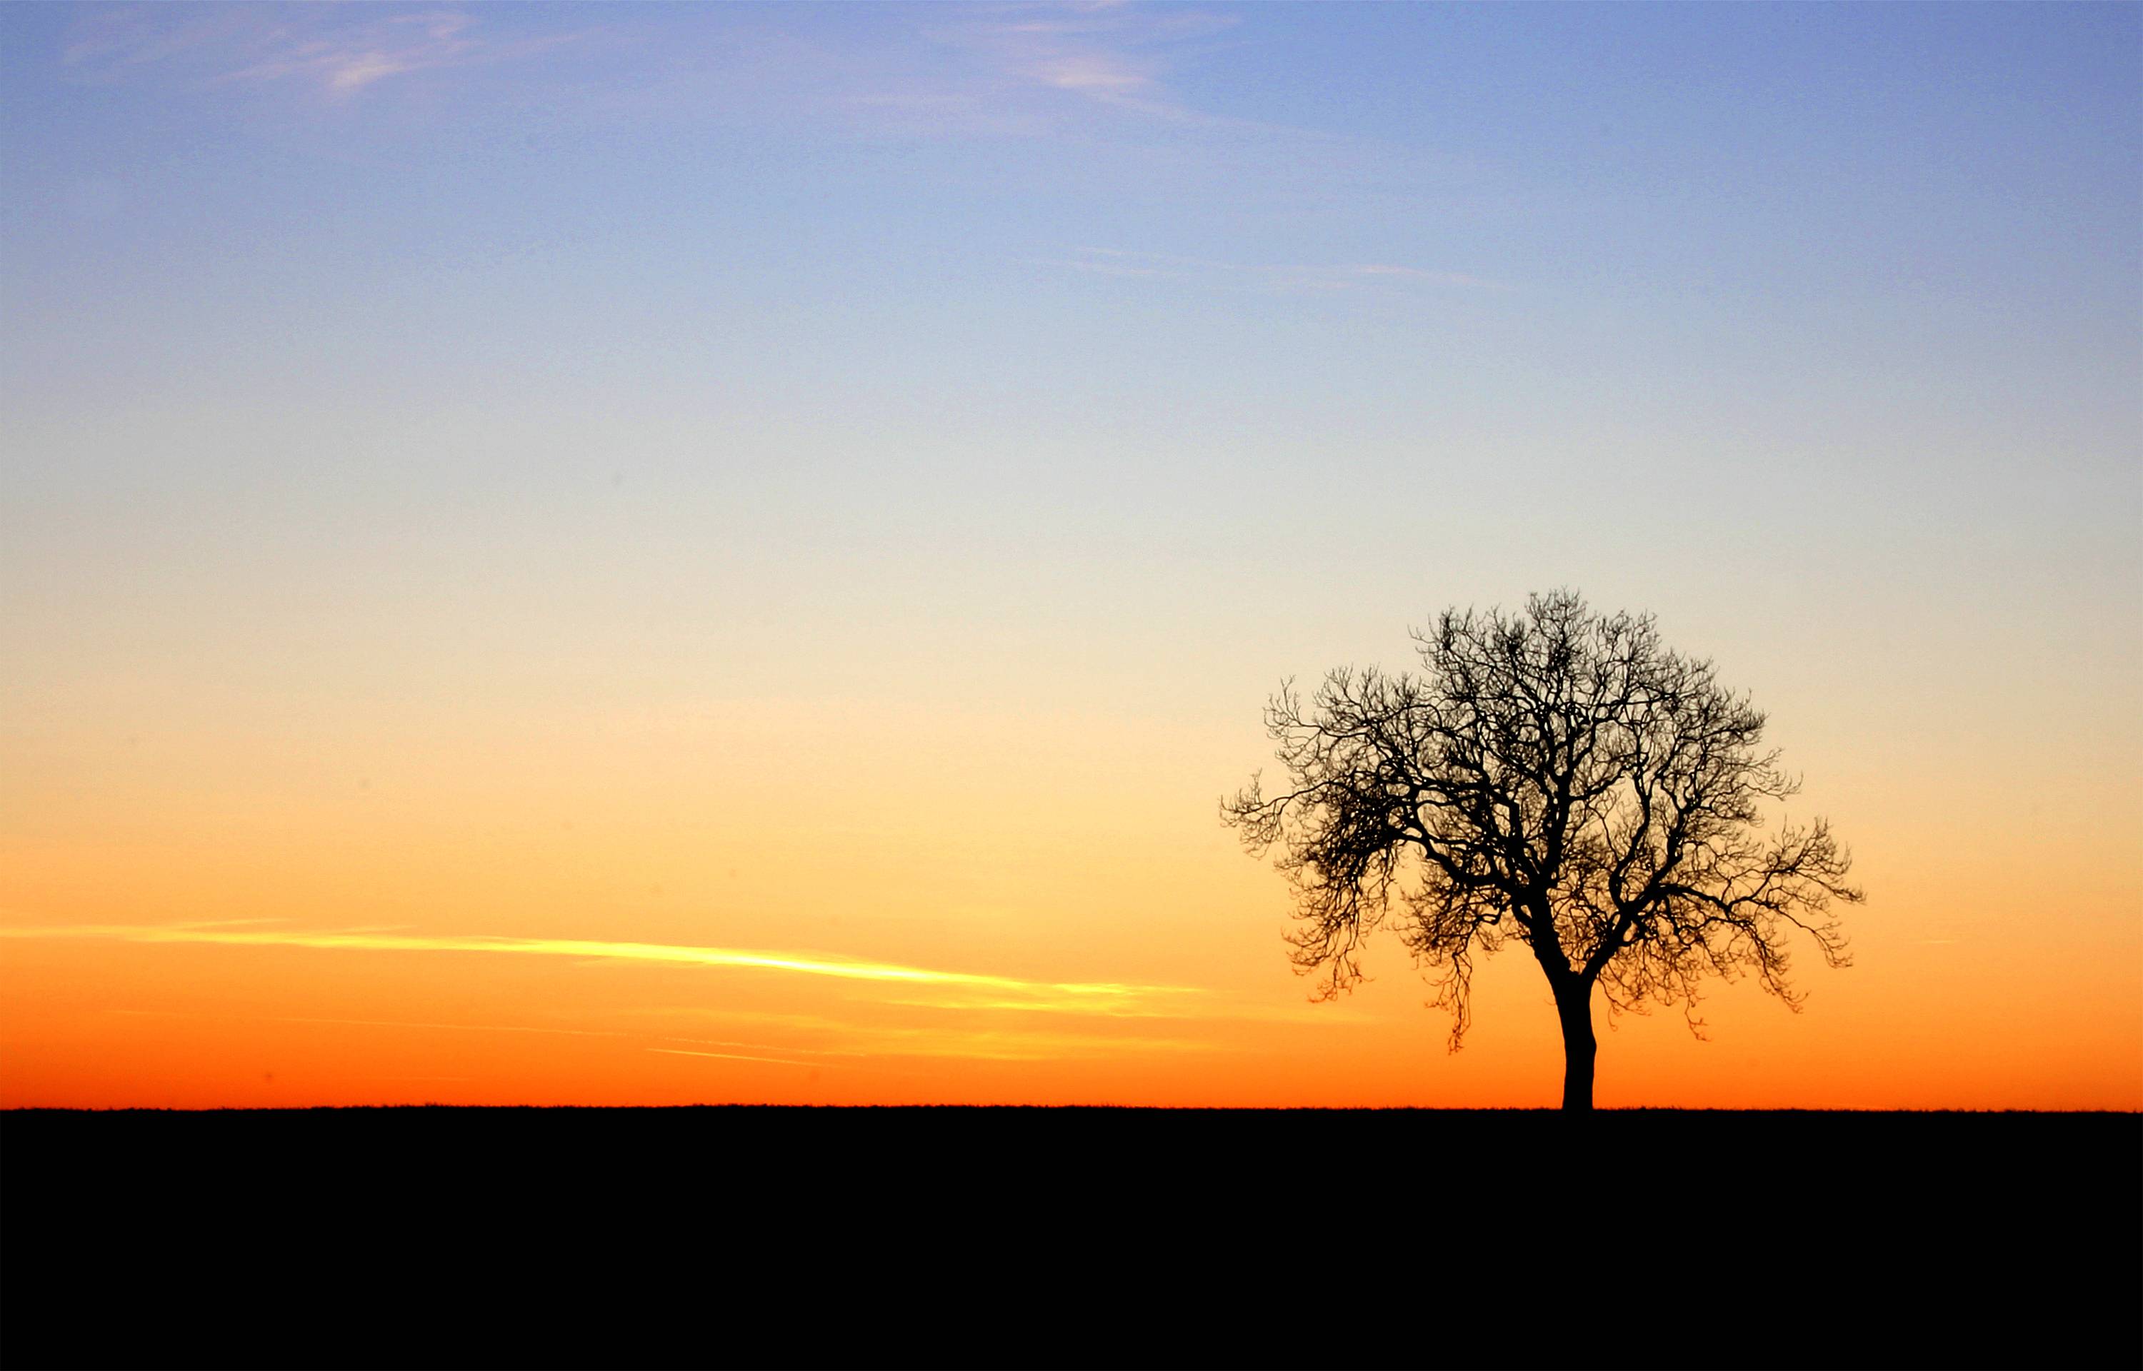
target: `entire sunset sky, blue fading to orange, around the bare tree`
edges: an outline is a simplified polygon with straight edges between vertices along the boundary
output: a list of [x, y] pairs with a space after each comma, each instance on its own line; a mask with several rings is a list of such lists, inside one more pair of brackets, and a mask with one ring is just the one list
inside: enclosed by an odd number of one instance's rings
[[1603, 1105], [2143, 1108], [2143, 9], [0, 6], [0, 1105], [1547, 1105], [1219, 799], [1650, 611], [1854, 966]]

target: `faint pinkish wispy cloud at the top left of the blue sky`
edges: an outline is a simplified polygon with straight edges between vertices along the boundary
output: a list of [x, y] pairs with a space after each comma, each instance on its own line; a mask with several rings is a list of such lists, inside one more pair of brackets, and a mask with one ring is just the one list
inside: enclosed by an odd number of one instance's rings
[[92, 81], [298, 84], [351, 96], [388, 77], [504, 62], [576, 36], [508, 36], [497, 24], [456, 9], [139, 4], [88, 13], [71, 30], [60, 60]]

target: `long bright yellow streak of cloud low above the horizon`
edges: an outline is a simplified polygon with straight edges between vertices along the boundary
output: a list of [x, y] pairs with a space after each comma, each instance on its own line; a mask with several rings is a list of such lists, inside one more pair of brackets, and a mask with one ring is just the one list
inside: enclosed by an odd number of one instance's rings
[[1001, 992], [1026, 1005], [1089, 1013], [1114, 1013], [1147, 996], [1192, 996], [1192, 985], [1132, 985], [1119, 981], [1026, 981], [969, 970], [934, 970], [898, 962], [866, 962], [816, 951], [767, 951], [746, 947], [690, 947], [677, 943], [606, 943], [596, 938], [508, 938], [493, 934], [433, 936], [360, 930], [261, 930], [221, 923], [81, 923], [56, 928], [0, 928], [0, 938], [109, 938], [120, 943], [214, 943], [225, 947], [313, 947], [321, 951], [465, 951], [538, 958], [581, 958], [609, 962], [664, 962], [771, 970], [842, 981], [896, 985], [962, 985]]

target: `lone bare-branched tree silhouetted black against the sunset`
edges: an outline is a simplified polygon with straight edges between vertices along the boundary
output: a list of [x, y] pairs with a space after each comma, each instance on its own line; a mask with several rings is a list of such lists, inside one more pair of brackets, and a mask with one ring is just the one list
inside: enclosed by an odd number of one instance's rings
[[1592, 992], [1607, 1011], [1680, 1005], [1706, 975], [1787, 985], [1785, 940], [1845, 966], [1824, 917], [1847, 848], [1822, 818], [1768, 833], [1800, 788], [1762, 750], [1764, 715], [1710, 662], [1665, 649], [1650, 615], [1592, 613], [1573, 591], [1524, 613], [1444, 611], [1414, 632], [1423, 675], [1337, 668], [1305, 705], [1267, 707], [1288, 788], [1222, 805], [1252, 853], [1279, 848], [1297, 895], [1288, 936], [1324, 996], [1361, 979], [1363, 936], [1391, 925], [1453, 1015], [1474, 958], [1532, 949], [1562, 1020], [1562, 1108], [1592, 1108]]

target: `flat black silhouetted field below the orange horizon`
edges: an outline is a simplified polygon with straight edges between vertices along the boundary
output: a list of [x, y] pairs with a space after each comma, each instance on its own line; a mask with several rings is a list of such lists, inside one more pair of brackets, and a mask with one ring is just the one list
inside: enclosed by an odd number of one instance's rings
[[2126, 1365], [2134, 1114], [0, 1116], [45, 1365]]

